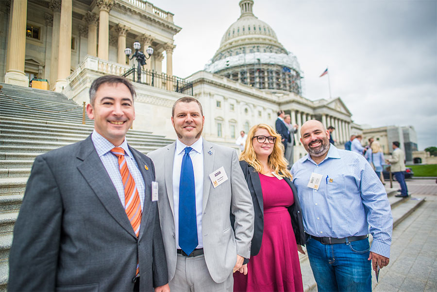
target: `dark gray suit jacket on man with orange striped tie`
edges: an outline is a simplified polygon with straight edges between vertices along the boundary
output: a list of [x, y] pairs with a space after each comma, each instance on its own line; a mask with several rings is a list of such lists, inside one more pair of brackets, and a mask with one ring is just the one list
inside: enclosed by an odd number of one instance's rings
[[91, 136], [36, 157], [15, 224], [9, 291], [133, 291], [137, 259], [140, 291], [168, 283], [153, 164], [130, 150], [146, 185], [138, 239]]

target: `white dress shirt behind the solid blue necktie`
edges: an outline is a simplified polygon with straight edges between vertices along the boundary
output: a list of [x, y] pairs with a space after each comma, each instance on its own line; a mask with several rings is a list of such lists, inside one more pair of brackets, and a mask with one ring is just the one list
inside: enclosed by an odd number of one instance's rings
[[174, 227], [176, 235], [176, 248], [179, 246], [179, 181], [181, 179], [182, 158], [185, 154], [185, 147], [193, 148], [190, 152], [190, 158], [193, 163], [194, 185], [196, 196], [196, 222], [197, 222], [197, 239], [199, 245], [196, 248], [203, 247], [202, 241], [202, 197], [203, 197], [203, 139], [202, 136], [191, 146], [187, 146], [179, 139], [176, 139], [176, 148], [173, 160], [173, 207], [174, 207]]

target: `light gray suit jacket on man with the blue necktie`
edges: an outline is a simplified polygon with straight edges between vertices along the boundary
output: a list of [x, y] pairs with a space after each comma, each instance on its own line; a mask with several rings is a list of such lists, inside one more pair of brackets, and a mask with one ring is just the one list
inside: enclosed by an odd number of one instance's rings
[[[149, 153], [155, 163], [159, 187], [159, 216], [166, 248], [168, 279], [176, 271], [176, 240], [173, 206], [173, 159], [176, 143]], [[209, 174], [220, 167], [228, 180], [217, 188], [212, 186]], [[236, 255], [250, 257], [253, 235], [252, 197], [238, 164], [234, 149], [212, 144], [203, 139], [203, 252], [209, 274], [217, 283], [232, 274]], [[235, 215], [235, 233], [229, 211]]]

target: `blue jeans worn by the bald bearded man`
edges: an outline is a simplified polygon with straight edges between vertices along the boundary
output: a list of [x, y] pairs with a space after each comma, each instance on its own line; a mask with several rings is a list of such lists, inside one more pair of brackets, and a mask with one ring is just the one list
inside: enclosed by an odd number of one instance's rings
[[306, 250], [317, 291], [372, 291], [369, 239], [339, 244], [321, 244], [311, 237]]

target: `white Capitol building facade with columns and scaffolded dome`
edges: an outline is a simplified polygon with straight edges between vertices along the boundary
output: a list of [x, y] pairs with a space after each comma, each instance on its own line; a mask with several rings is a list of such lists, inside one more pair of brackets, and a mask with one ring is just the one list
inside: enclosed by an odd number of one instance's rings
[[[184, 79], [172, 73], [172, 54], [177, 50], [173, 36], [181, 27], [173, 22], [171, 12], [148, 1], [5, 0], [2, 4], [0, 43], [5, 45], [0, 48], [0, 82], [29, 86], [32, 79], [46, 80], [48, 90], [82, 104], [88, 101], [95, 78], [132, 71], [136, 61], [124, 51], [138, 40], [142, 51], [151, 47], [153, 53], [143, 66], [141, 82], [134, 83], [134, 129], [176, 137], [171, 106], [192, 95], [203, 106], [203, 136], [231, 147], [236, 147], [240, 130], [247, 132], [257, 123], [274, 126], [278, 110], [291, 115], [292, 123], [299, 126], [310, 119], [333, 125], [339, 147], [362, 131], [341, 98], [303, 97], [304, 74], [298, 59], [279, 42], [273, 28], [255, 17], [253, 0], [238, 3], [241, 15], [223, 32], [211, 62]], [[299, 133], [296, 138], [299, 141]], [[298, 142], [295, 159], [305, 154]]]

